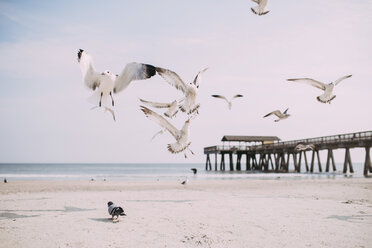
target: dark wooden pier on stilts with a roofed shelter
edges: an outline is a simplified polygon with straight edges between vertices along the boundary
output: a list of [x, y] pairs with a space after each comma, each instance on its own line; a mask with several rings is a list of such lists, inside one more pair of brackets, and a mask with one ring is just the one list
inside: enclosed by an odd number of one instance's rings
[[[274, 171], [274, 172], [289, 172], [289, 162], [292, 158], [294, 172], [301, 172], [302, 164], [304, 163], [307, 172], [317, 171], [323, 172], [322, 163], [320, 161], [319, 151], [327, 150], [327, 161], [325, 172], [330, 170], [336, 171], [336, 164], [333, 157], [333, 150], [345, 149], [345, 159], [343, 173], [348, 171], [353, 173], [353, 164], [350, 156], [350, 149], [364, 148], [364, 175], [368, 176], [372, 173], [372, 164], [370, 149], [372, 146], [372, 131], [339, 134], [332, 136], [324, 136], [317, 138], [292, 140], [281, 142], [275, 136], [224, 136], [222, 138], [222, 146], [210, 146], [204, 148], [204, 154], [207, 155], [205, 164], [206, 170], [212, 170], [211, 157], [214, 154], [214, 170], [218, 170], [218, 154], [221, 156], [219, 169], [225, 171], [225, 155], [229, 156], [229, 170], [241, 171], [242, 158], [246, 157], [245, 170], [255, 171]], [[228, 145], [225, 145], [228, 142]], [[234, 142], [234, 145], [231, 145]], [[295, 149], [299, 144], [311, 145], [314, 149], [306, 150]], [[310, 163], [307, 153], [311, 153]], [[234, 155], [236, 155], [236, 166], [234, 166]], [[332, 167], [331, 167], [332, 166]]]

